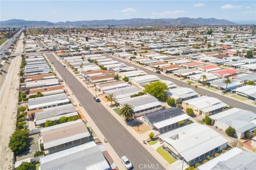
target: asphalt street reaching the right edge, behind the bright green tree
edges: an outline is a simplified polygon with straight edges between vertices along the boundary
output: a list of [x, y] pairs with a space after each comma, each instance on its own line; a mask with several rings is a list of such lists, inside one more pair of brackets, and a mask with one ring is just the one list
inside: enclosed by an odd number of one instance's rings
[[[135, 65], [135, 64], [132, 64], [132, 63], [129, 63], [129, 62], [125, 62], [123, 60], [119, 60], [119, 58], [117, 57], [112, 57], [110, 55], [107, 55], [107, 57], [110, 57], [112, 58], [113, 60], [117, 60], [119, 62], [123, 62], [125, 63], [126, 65], [128, 66], [134, 66], [135, 68], [138, 68], [139, 66], [138, 65]], [[151, 70], [148, 70], [148, 69], [145, 69], [143, 67], [140, 67], [141, 70], [145, 71], [146, 73], [148, 74], [154, 74], [154, 75], [157, 75], [157, 77], [159, 77], [160, 79], [162, 80], [169, 80], [169, 81], [172, 81], [173, 83], [177, 84], [178, 86], [180, 87], [188, 87], [188, 84], [186, 82], [183, 82], [183, 81], [180, 81], [180, 80], [177, 80], [177, 79], [174, 79], [174, 78], [170, 78], [170, 77], [167, 77], [166, 75], [163, 75], [163, 74], [157, 74], [156, 72], [154, 71], [151, 71]], [[190, 86], [191, 89], [194, 89], [194, 86]], [[237, 100], [234, 100], [234, 99], [230, 99], [226, 96], [223, 96], [223, 95], [219, 95], [215, 92], [211, 92], [209, 90], [205, 90], [205, 89], [202, 89], [202, 88], [197, 88], [196, 90], [199, 94], [201, 95], [204, 95], [204, 96], [209, 96], [209, 97], [214, 97], [214, 98], [218, 98], [219, 100], [223, 101], [224, 103], [226, 103], [227, 105], [229, 106], [233, 106], [233, 107], [237, 107], [237, 108], [241, 108], [241, 109], [245, 109], [247, 111], [251, 111], [251, 112], [256, 112], [256, 108], [251, 106], [251, 105], [247, 105], [245, 103], [242, 103], [240, 101], [237, 101]]]

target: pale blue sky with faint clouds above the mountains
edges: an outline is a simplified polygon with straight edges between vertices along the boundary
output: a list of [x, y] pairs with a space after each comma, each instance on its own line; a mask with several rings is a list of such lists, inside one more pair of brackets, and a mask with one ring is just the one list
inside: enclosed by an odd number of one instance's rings
[[130, 18], [256, 20], [256, 1], [0, 1], [1, 21]]

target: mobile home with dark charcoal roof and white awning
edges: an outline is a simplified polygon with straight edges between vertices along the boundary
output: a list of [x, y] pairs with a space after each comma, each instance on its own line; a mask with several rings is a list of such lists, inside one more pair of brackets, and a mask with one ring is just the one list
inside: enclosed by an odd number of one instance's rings
[[175, 107], [142, 116], [143, 122], [159, 133], [171, 131], [185, 125], [188, 122], [188, 118], [189, 116], [180, 108]]

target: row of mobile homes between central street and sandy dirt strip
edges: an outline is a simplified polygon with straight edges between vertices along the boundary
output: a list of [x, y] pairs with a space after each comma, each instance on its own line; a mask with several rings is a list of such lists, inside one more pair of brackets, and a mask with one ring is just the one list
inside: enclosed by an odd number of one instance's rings
[[[42, 54], [29, 54], [25, 58], [27, 65], [23, 69], [25, 81], [21, 83], [21, 90], [28, 98], [29, 133], [39, 133], [35, 142], [42, 146], [40, 149], [45, 155], [39, 158], [39, 169], [111, 169], [101, 148], [92, 141], [91, 132], [80, 118], [83, 114], [63, 87], [63, 80], [55, 75]], [[38, 73], [44, 68], [42, 65], [50, 70]]]

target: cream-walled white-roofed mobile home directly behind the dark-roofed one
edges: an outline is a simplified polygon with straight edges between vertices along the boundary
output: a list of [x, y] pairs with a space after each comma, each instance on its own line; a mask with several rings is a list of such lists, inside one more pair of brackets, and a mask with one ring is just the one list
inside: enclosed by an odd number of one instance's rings
[[217, 98], [201, 96], [183, 101], [182, 107], [184, 109], [192, 108], [194, 114], [207, 117], [221, 112], [224, 108], [228, 107], [228, 105]]

